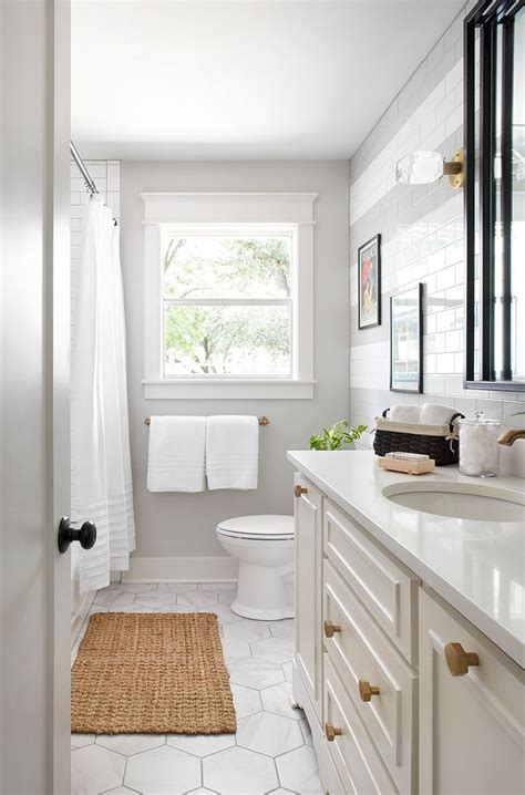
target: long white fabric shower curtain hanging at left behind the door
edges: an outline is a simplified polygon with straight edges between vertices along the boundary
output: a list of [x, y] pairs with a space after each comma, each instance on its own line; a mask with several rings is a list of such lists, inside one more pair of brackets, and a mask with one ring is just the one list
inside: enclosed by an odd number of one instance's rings
[[135, 523], [127, 424], [124, 296], [119, 227], [94, 196], [85, 216], [72, 333], [72, 515], [96, 525], [79, 550], [81, 592], [128, 568]]

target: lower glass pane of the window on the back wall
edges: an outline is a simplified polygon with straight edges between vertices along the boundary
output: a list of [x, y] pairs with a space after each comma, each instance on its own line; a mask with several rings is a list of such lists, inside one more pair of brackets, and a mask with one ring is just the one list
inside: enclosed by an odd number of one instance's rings
[[164, 321], [166, 375], [291, 374], [289, 306], [167, 306]]

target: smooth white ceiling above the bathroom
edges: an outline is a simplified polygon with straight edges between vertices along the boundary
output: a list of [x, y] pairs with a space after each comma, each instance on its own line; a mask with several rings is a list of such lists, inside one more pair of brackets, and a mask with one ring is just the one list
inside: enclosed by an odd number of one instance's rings
[[84, 157], [348, 158], [464, 0], [74, 0]]

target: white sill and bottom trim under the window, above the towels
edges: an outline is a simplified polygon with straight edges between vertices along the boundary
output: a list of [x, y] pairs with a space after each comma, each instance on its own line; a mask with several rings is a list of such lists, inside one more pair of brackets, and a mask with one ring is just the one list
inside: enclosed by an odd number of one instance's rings
[[142, 383], [146, 400], [311, 400], [316, 381], [164, 379]]

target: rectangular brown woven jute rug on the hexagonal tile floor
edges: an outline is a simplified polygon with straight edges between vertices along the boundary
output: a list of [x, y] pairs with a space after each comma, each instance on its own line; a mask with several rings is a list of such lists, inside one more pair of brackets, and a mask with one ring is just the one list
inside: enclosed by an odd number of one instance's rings
[[236, 731], [214, 613], [95, 613], [71, 672], [73, 732]]

